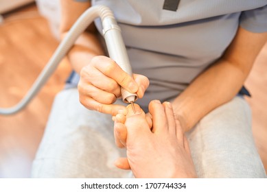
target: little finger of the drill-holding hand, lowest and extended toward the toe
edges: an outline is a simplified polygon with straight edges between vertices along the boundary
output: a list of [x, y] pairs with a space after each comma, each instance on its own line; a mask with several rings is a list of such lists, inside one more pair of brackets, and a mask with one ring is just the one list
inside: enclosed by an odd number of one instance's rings
[[99, 102], [95, 101], [95, 99], [89, 97], [81, 97], [80, 96], [80, 103], [83, 104], [89, 110], [96, 110], [98, 112], [110, 114], [110, 115], [117, 115], [119, 110], [126, 110], [125, 106], [115, 105], [115, 104], [100, 104]]

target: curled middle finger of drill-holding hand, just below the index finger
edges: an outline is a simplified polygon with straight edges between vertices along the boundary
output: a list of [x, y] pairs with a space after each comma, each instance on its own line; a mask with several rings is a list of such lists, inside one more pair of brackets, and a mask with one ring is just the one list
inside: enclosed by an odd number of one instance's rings
[[120, 97], [120, 86], [115, 80], [104, 75], [101, 71], [93, 67], [91, 64], [82, 68], [80, 72], [80, 86], [86, 87], [91, 84], [103, 91], [113, 93], [116, 97]]

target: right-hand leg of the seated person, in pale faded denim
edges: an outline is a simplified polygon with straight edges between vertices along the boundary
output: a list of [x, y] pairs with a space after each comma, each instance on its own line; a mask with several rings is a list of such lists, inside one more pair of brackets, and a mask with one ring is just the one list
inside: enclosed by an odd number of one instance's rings
[[265, 178], [242, 97], [216, 108], [187, 133], [200, 178]]

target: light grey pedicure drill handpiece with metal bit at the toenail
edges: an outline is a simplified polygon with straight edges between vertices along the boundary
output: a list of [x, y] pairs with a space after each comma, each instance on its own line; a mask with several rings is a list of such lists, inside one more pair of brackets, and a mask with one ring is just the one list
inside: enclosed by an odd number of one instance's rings
[[[119, 64], [119, 67], [126, 71], [126, 73], [132, 75], [132, 68], [130, 67], [130, 61], [117, 21], [108, 17], [102, 21], [102, 27], [109, 57], [115, 60], [115, 62]], [[133, 103], [138, 99], [137, 94], [130, 93], [121, 87], [121, 97], [124, 103], [132, 105], [132, 110], [135, 112], [135, 106]]]

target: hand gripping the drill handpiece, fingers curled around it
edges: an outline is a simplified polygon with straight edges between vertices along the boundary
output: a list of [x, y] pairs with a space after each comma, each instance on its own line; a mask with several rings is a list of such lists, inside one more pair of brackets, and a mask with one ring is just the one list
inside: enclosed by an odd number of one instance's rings
[[131, 77], [111, 58], [95, 56], [80, 73], [78, 91], [81, 104], [89, 110], [117, 115], [119, 110], [126, 110], [113, 104], [121, 97], [121, 87], [142, 98], [148, 85], [147, 77], [138, 74]]

